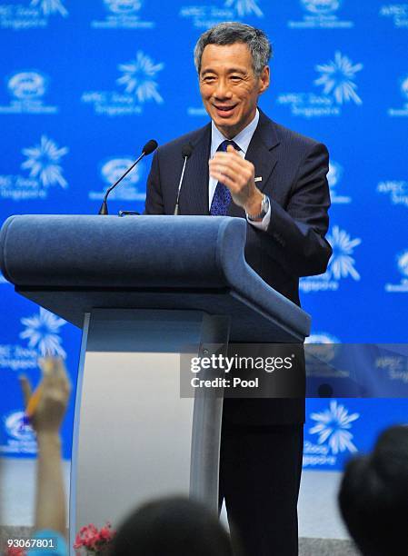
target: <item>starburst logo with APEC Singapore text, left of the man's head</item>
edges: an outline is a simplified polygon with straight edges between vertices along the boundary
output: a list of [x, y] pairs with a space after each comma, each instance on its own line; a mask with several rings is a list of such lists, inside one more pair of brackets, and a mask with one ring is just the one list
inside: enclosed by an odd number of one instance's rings
[[163, 63], [154, 62], [149, 55], [139, 50], [134, 59], [117, 66], [121, 74], [116, 78], [118, 89], [85, 91], [81, 102], [93, 106], [98, 115], [114, 117], [143, 114], [144, 104], [164, 103], [157, 82], [157, 74], [163, 68]]

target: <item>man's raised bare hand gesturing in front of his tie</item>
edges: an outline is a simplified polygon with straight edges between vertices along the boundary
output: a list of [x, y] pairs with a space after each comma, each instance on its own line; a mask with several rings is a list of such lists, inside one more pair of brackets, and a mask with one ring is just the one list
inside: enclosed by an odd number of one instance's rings
[[264, 194], [255, 185], [254, 164], [245, 160], [229, 144], [226, 153], [215, 153], [209, 165], [210, 175], [228, 187], [234, 204], [241, 206], [248, 214], [261, 212]]

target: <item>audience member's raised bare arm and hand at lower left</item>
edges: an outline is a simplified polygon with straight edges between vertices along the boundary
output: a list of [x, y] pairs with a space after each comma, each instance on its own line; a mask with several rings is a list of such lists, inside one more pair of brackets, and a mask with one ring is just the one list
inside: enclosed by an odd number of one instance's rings
[[34, 394], [28, 379], [25, 376], [20, 377], [26, 412], [32, 408], [30, 423], [38, 445], [34, 537], [54, 539], [55, 548], [36, 549], [28, 551], [28, 554], [65, 556], [66, 501], [60, 427], [65, 416], [71, 384], [62, 359], [45, 357], [40, 359], [38, 364], [43, 378]]

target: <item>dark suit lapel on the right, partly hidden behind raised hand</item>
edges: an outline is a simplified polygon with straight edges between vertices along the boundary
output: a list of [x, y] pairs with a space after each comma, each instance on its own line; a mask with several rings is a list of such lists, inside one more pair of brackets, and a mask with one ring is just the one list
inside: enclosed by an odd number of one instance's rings
[[[262, 177], [261, 182], [256, 182], [256, 187], [261, 191], [264, 191], [278, 162], [278, 145], [279, 138], [276, 134], [274, 122], [259, 110], [259, 122], [248, 146], [245, 159], [254, 164], [255, 177]], [[244, 210], [232, 203], [229, 206], [227, 215], [243, 216]]]

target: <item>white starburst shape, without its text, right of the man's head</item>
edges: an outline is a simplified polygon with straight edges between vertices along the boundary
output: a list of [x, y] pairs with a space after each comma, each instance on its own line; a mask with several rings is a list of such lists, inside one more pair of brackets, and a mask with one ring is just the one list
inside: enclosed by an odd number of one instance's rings
[[322, 75], [314, 81], [314, 84], [323, 85], [323, 93], [333, 94], [337, 104], [352, 100], [355, 104], [362, 104], [362, 99], [355, 92], [357, 85], [353, 80], [355, 74], [363, 69], [363, 64], [353, 65], [350, 58], [336, 52], [333, 61], [316, 65], [315, 69]]

